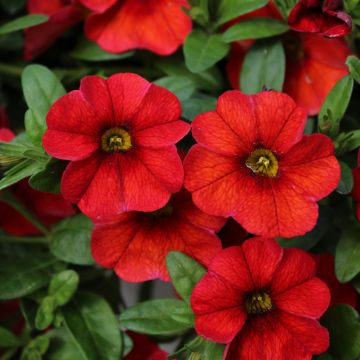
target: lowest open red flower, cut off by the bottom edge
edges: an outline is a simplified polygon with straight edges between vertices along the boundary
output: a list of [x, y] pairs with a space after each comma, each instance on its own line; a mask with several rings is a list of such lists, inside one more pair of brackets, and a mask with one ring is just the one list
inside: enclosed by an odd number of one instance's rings
[[299, 249], [256, 237], [218, 253], [195, 286], [195, 329], [227, 344], [224, 360], [310, 360], [329, 346], [317, 319], [330, 293]]

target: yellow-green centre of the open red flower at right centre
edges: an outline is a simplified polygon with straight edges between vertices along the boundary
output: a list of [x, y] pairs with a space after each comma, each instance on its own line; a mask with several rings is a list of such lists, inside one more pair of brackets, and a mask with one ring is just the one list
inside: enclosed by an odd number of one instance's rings
[[255, 174], [276, 177], [279, 163], [275, 155], [267, 149], [256, 149], [247, 158], [245, 165]]

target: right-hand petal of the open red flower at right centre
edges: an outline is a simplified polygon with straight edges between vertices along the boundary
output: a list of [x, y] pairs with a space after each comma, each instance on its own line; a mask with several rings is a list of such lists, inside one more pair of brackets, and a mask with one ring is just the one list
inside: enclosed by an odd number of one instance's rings
[[280, 176], [299, 193], [319, 200], [334, 191], [339, 183], [340, 165], [334, 145], [322, 134], [304, 136], [280, 161]]

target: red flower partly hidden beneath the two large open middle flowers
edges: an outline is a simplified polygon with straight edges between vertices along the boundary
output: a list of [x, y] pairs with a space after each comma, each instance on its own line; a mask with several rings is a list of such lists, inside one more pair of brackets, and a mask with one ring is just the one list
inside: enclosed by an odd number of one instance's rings
[[97, 263], [114, 268], [126, 281], [168, 281], [167, 253], [182, 251], [207, 265], [221, 249], [215, 232], [224, 223], [196, 208], [191, 195], [181, 191], [162, 209], [128, 212], [95, 224], [91, 252]]

